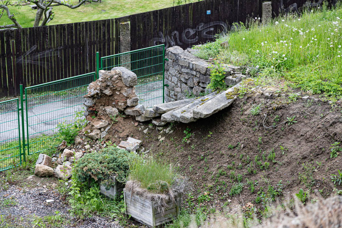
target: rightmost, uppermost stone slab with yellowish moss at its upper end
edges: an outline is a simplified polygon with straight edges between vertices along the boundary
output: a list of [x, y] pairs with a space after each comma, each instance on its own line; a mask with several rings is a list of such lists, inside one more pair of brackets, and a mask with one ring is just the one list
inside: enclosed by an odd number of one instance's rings
[[210, 99], [208, 102], [195, 108], [193, 110], [194, 118], [196, 119], [207, 118], [213, 115], [214, 113], [221, 111], [222, 109], [231, 105], [236, 99], [236, 96], [232, 97], [232, 99], [228, 99], [226, 97], [226, 93], [233, 92], [235, 88], [238, 88], [240, 86], [242, 86], [242, 82], [234, 85], [232, 88], [224, 91], [223, 93], [216, 95], [215, 97]]

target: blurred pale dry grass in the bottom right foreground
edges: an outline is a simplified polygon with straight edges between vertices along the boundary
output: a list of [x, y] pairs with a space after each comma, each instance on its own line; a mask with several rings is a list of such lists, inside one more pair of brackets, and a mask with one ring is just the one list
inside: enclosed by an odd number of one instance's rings
[[[342, 227], [342, 196], [330, 197], [304, 206], [299, 200], [295, 202], [295, 209], [273, 207], [272, 215], [259, 224], [256, 218], [246, 224], [239, 209], [226, 215], [216, 214], [201, 228], [339, 228]], [[245, 222], [245, 224], [244, 224]], [[189, 228], [197, 228], [195, 220]]]

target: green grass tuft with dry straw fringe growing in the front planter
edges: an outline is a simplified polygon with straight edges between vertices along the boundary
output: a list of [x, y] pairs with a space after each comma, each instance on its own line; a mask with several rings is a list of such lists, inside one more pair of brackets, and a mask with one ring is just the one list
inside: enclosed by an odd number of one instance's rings
[[137, 157], [131, 162], [125, 188], [132, 194], [159, 204], [157, 210], [164, 212], [167, 203], [176, 201], [189, 186], [188, 179], [180, 176], [170, 164], [153, 158]]

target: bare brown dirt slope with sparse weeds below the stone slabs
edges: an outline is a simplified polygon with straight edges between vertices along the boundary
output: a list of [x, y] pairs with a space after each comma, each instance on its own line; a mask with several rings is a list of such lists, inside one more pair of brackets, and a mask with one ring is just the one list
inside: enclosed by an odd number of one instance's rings
[[[108, 137], [116, 143], [128, 136], [139, 138], [154, 156], [179, 166], [193, 182], [190, 197], [194, 198], [185, 201], [186, 206], [252, 202], [263, 209], [267, 201], [292, 196], [301, 188], [327, 198], [335, 188], [330, 175], [342, 169], [341, 155], [330, 159], [329, 148], [342, 138], [341, 106], [304, 102], [300, 97], [289, 100], [287, 96], [267, 99], [258, 92], [248, 93], [207, 119], [173, 124], [173, 133], [161, 135], [163, 142], [155, 126], [144, 134], [139, 128], [146, 129], [148, 122], [134, 126], [130, 117], [115, 124]], [[259, 104], [261, 112], [251, 115], [252, 105]], [[288, 125], [287, 117], [294, 116], [297, 122]], [[193, 133], [189, 143], [183, 142], [186, 128]], [[231, 189], [239, 182], [243, 190], [234, 195]]]

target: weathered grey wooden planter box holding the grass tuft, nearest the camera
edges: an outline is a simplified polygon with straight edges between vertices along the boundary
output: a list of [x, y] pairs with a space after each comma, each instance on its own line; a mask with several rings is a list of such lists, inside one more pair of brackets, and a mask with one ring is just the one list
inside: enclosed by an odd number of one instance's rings
[[181, 210], [182, 195], [177, 196], [175, 202], [168, 202], [168, 208], [164, 213], [158, 212], [157, 203], [143, 199], [135, 194], [132, 195], [125, 188], [123, 189], [123, 197], [126, 205], [125, 213], [149, 227], [156, 227], [171, 221], [179, 215]]

